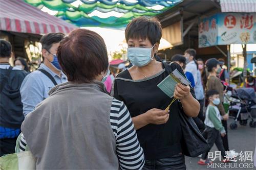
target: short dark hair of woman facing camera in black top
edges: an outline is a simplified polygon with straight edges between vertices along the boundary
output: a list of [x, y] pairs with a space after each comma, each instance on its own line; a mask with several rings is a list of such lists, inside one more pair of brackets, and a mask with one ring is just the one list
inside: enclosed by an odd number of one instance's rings
[[141, 16], [133, 19], [125, 29], [126, 42], [130, 38], [141, 38], [145, 40], [148, 38], [151, 44], [160, 43], [162, 37], [161, 23], [157, 18]]

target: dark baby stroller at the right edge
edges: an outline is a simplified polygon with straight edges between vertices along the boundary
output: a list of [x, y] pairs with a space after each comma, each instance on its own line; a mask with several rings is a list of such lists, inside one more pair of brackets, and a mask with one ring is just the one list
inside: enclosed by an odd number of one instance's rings
[[239, 88], [233, 90], [231, 98], [228, 98], [227, 95], [225, 97], [230, 103], [228, 109], [229, 117], [234, 119], [234, 122], [230, 124], [230, 129], [238, 127], [237, 120], [239, 120], [240, 125], [246, 126], [248, 118], [251, 119], [249, 122], [250, 127], [255, 128], [256, 122], [254, 122], [250, 114], [251, 107], [256, 105], [254, 89]]

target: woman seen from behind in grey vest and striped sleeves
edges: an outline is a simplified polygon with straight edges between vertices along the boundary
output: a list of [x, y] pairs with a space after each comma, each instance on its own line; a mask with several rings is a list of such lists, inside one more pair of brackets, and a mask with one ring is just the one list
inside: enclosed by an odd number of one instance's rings
[[27, 115], [20, 150], [28, 145], [39, 169], [141, 169], [145, 159], [130, 113], [102, 83], [109, 74], [103, 39], [74, 30], [57, 56], [69, 82]]

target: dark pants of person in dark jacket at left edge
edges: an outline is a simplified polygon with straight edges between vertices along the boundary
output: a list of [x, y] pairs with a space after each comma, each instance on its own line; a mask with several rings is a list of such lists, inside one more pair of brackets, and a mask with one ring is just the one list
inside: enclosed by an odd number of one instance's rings
[[0, 154], [13, 154], [15, 152], [16, 138], [0, 139]]

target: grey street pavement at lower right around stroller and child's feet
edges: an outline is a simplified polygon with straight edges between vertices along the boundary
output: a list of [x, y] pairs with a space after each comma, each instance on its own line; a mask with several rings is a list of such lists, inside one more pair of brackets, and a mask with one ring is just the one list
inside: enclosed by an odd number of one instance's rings
[[[254, 118], [254, 120], [256, 120], [256, 118]], [[243, 151], [242, 153], [244, 154], [245, 151], [253, 151], [254, 154], [254, 149], [255, 149], [255, 145], [256, 145], [256, 128], [251, 128], [249, 127], [249, 121], [247, 126], [241, 126], [239, 125], [239, 122], [237, 122], [238, 124], [238, 128], [236, 130], [231, 130], [229, 128], [229, 124], [233, 122], [233, 119], [229, 119], [228, 120], [228, 142], [229, 142], [229, 149], [230, 150], [234, 150], [238, 153], [240, 153], [241, 151]], [[210, 152], [215, 152], [218, 151], [216, 148], [216, 145], [214, 145], [214, 147], [211, 149]], [[238, 157], [239, 158], [239, 157]], [[190, 169], [255, 169], [256, 167], [253, 168], [239, 168], [239, 164], [240, 166], [245, 166], [244, 163], [253, 163], [251, 161], [246, 161], [246, 162], [241, 162], [241, 161], [237, 161], [237, 168], [232, 168], [234, 167], [234, 165], [231, 165], [230, 168], [221, 168], [223, 167], [223, 164], [220, 165], [220, 167], [207, 167], [207, 165], [199, 165], [197, 164], [199, 158], [191, 158], [191, 157], [186, 157], [186, 166], [187, 166], [187, 170]], [[220, 161], [214, 161], [214, 163], [221, 163]], [[233, 164], [233, 162], [230, 162]], [[242, 164], [243, 163], [243, 164]], [[250, 164], [250, 166], [252, 166]]]

